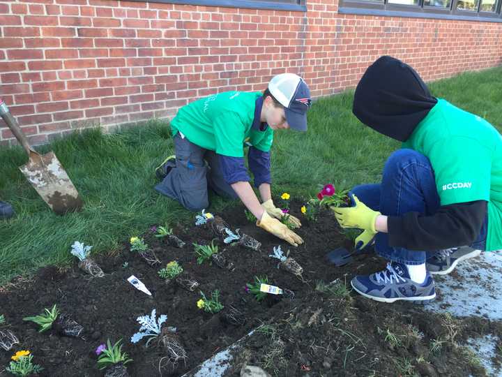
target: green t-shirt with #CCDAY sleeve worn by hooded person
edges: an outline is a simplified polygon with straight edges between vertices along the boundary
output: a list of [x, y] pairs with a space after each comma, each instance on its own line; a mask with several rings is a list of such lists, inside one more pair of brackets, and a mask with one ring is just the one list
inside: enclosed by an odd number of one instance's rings
[[438, 103], [403, 148], [429, 158], [441, 205], [488, 202], [487, 250], [502, 249], [502, 138], [485, 119]]

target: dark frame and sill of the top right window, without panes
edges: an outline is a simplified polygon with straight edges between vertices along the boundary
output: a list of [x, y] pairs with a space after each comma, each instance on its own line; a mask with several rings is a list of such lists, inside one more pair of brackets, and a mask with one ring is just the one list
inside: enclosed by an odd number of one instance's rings
[[420, 0], [418, 5], [393, 4], [384, 1], [372, 0], [339, 0], [338, 13], [356, 15], [375, 15], [388, 17], [419, 17], [436, 18], [441, 20], [467, 20], [483, 22], [502, 22], [502, 0], [497, 0], [496, 11], [486, 12], [480, 10], [482, 0], [478, 5], [478, 10], [457, 9], [458, 0], [452, 0], [450, 8], [439, 8], [435, 6], [423, 5], [424, 0]]

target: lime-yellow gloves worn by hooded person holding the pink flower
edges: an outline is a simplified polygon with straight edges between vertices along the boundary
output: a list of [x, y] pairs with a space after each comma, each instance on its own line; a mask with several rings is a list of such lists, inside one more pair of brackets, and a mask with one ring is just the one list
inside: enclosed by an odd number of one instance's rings
[[377, 234], [375, 230], [375, 221], [381, 213], [367, 207], [363, 202], [360, 202], [356, 195], [352, 195], [353, 202], [356, 203], [353, 207], [335, 207], [335, 217], [342, 228], [359, 228], [363, 229], [355, 242], [356, 249], [363, 249], [367, 244], [370, 244]]

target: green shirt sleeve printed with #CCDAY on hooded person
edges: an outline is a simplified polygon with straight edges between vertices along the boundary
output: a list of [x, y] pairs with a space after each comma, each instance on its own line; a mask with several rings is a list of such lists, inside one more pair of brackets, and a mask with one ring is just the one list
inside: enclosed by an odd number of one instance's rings
[[492, 153], [477, 140], [452, 136], [435, 142], [426, 155], [441, 205], [489, 201]]

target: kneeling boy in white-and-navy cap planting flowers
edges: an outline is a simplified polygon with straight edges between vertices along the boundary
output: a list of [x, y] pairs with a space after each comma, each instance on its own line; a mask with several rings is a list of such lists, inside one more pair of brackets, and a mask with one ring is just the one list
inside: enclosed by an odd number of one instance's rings
[[[273, 77], [263, 94], [227, 91], [183, 106], [171, 121], [176, 155], [157, 168], [162, 182], [155, 190], [199, 211], [209, 205], [209, 186], [218, 195], [240, 198], [260, 228], [294, 246], [302, 244], [303, 239], [279, 221], [284, 214], [273, 204], [270, 149], [275, 130], [307, 131], [310, 103], [305, 81], [283, 73]], [[245, 144], [261, 204], [249, 183]], [[296, 217], [289, 220], [301, 226]]]

